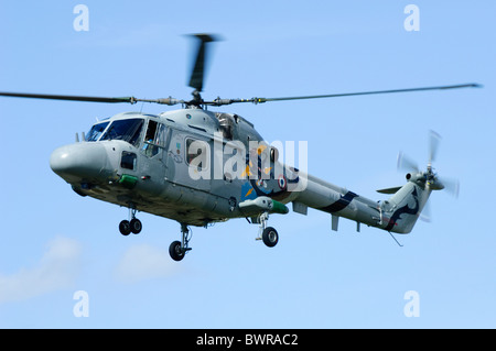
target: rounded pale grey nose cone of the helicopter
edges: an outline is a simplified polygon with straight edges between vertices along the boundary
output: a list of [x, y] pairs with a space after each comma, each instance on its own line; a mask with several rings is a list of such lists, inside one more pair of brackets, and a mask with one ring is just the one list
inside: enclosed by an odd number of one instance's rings
[[66, 182], [93, 179], [107, 165], [107, 152], [98, 143], [76, 143], [56, 149], [50, 156], [50, 167]]

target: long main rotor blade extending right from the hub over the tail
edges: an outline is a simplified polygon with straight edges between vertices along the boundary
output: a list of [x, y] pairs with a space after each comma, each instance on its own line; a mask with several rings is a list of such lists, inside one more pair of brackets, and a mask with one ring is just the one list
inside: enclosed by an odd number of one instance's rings
[[211, 102], [205, 102], [207, 105], [220, 106], [230, 105], [237, 102], [254, 102], [263, 103], [269, 101], [288, 101], [288, 100], [306, 100], [306, 99], [322, 99], [322, 98], [339, 98], [348, 96], [359, 96], [359, 95], [377, 95], [377, 94], [392, 94], [392, 92], [410, 92], [410, 91], [424, 91], [424, 90], [448, 90], [448, 89], [460, 89], [460, 88], [481, 88], [482, 85], [470, 83], [460, 84], [451, 86], [438, 86], [438, 87], [422, 87], [422, 88], [408, 88], [408, 89], [391, 89], [391, 90], [373, 90], [373, 91], [359, 91], [359, 92], [344, 92], [344, 94], [328, 94], [328, 95], [310, 95], [300, 97], [283, 97], [283, 98], [251, 98], [251, 99], [216, 99]]

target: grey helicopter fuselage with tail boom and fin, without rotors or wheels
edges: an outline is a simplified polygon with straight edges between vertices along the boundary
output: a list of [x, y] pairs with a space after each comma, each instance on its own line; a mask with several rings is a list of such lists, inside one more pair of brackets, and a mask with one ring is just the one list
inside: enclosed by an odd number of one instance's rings
[[[234, 158], [237, 165], [226, 167]], [[431, 190], [413, 176], [388, 201], [369, 200], [287, 167], [246, 119], [197, 108], [116, 114], [93, 125], [83, 142], [55, 150], [50, 163], [82, 196], [187, 226], [257, 221], [261, 213], [287, 213], [292, 202], [302, 215], [308, 207], [331, 213], [334, 230], [345, 217], [357, 229], [407, 233]]]

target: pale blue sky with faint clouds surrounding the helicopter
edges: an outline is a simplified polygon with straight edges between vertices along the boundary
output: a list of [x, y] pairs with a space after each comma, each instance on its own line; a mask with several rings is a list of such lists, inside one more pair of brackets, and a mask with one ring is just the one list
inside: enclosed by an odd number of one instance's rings
[[[76, 32], [76, 4], [89, 31]], [[403, 28], [407, 4], [420, 31]], [[1, 328], [495, 328], [496, 166], [493, 1], [1, 1], [0, 90], [190, 97], [191, 42], [215, 45], [204, 97], [284, 97], [476, 81], [483, 89], [242, 105], [268, 141], [308, 141], [309, 172], [373, 198], [402, 185], [396, 157], [424, 165], [428, 131], [442, 135], [434, 167], [461, 193], [431, 198], [399, 248], [382, 231], [310, 210], [273, 215], [280, 241], [255, 241], [245, 219], [193, 228], [193, 251], [169, 219], [82, 198], [48, 166], [96, 118], [169, 107], [2, 98]], [[74, 293], [89, 316], [75, 317]], [[419, 317], [406, 317], [407, 292]]]

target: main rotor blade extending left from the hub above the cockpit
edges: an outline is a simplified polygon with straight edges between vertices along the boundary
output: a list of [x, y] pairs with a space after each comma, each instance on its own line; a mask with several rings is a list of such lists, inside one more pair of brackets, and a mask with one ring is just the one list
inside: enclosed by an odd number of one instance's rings
[[13, 98], [30, 98], [30, 99], [47, 99], [47, 100], [66, 100], [66, 101], [84, 101], [84, 102], [107, 102], [107, 103], [118, 103], [118, 102], [154, 102], [161, 105], [176, 105], [184, 103], [183, 100], [177, 100], [174, 98], [165, 99], [138, 99], [134, 97], [121, 97], [121, 98], [106, 98], [106, 97], [88, 97], [88, 96], [74, 96], [74, 95], [50, 95], [50, 94], [30, 94], [30, 92], [0, 92], [0, 96], [13, 97]]

